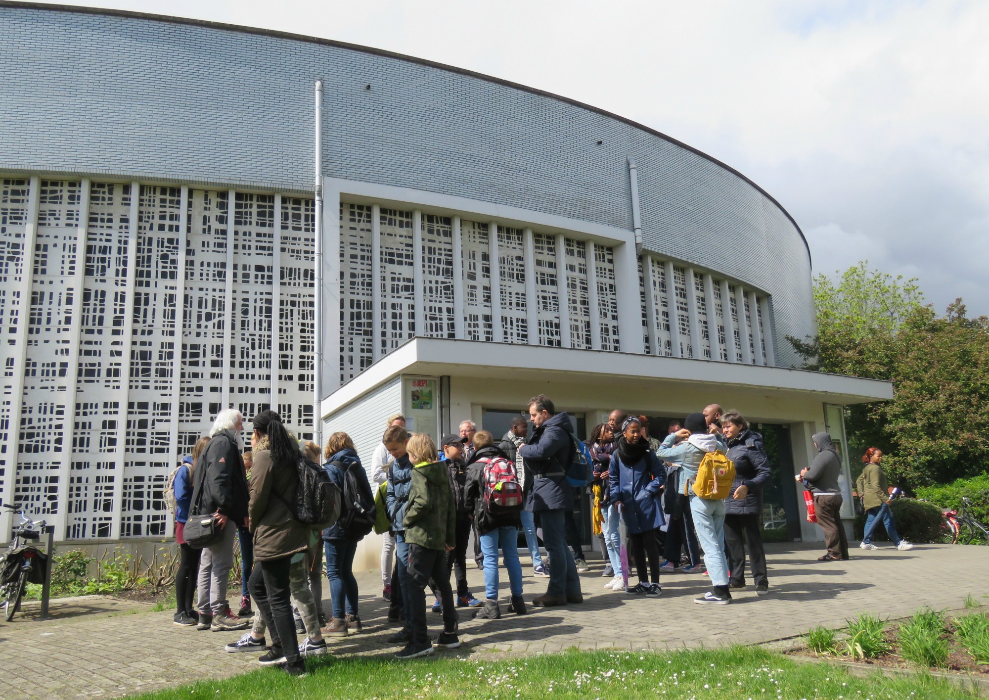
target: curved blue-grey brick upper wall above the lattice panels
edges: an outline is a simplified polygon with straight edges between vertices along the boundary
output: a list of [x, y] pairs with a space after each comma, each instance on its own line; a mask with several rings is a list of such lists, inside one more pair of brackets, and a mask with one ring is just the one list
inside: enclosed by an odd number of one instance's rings
[[595, 110], [354, 47], [100, 11], [0, 4], [0, 56], [3, 170], [305, 190], [317, 77], [333, 177], [630, 228], [632, 155], [647, 247], [770, 294], [777, 364], [796, 362], [784, 335], [814, 330], [809, 255], [786, 214]]

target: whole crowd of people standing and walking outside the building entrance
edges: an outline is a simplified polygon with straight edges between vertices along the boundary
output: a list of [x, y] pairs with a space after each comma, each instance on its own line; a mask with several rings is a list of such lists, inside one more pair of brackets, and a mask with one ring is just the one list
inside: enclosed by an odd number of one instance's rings
[[[570, 415], [557, 411], [548, 396], [532, 397], [528, 416], [529, 421], [512, 419], [500, 438], [466, 420], [437, 447], [425, 433], [408, 433], [403, 415], [393, 415], [372, 456], [369, 481], [344, 432], [332, 433], [320, 449], [297, 440], [276, 412], [263, 410], [253, 418], [245, 449], [243, 416], [222, 411], [210, 435], [170, 478], [180, 548], [175, 624], [245, 631], [225, 651], [260, 652], [261, 664], [302, 675], [305, 656], [326, 653], [326, 637], [362, 631], [353, 563], [358, 543], [374, 528], [383, 536], [382, 596], [389, 601], [389, 621], [399, 625], [388, 638], [402, 648], [396, 656], [457, 648], [458, 608], [494, 620], [504, 602], [515, 615], [527, 614], [529, 605], [584, 602], [579, 573], [588, 567], [573, 517], [584, 485], [593, 532], [605, 553], [605, 589], [655, 598], [663, 592], [661, 573], [703, 572], [710, 586], [694, 602], [725, 605], [733, 590], [746, 587], [748, 569], [756, 593], [769, 592], [760, 527], [769, 459], [762, 436], [740, 413], [708, 405], [670, 423], [660, 440], [650, 434], [646, 416], [616, 409], [583, 444]], [[845, 560], [841, 461], [828, 433], [814, 435], [814, 443], [818, 455], [796, 479], [813, 493], [825, 532], [827, 553], [820, 561]], [[871, 535], [882, 520], [897, 548], [910, 549], [892, 520], [881, 459], [880, 451], [870, 449], [856, 484], [868, 518], [860, 546], [875, 549]], [[587, 479], [575, 477], [575, 468], [580, 472], [586, 462]], [[311, 463], [316, 471], [321, 466], [341, 495], [339, 517], [321, 530], [301, 522], [293, 509], [300, 465]], [[727, 480], [724, 487], [721, 479]], [[212, 519], [216, 530], [199, 547], [185, 537], [187, 523], [196, 518], [205, 518], [197, 526]], [[528, 604], [519, 531], [533, 574], [548, 578], [545, 592]], [[235, 539], [243, 581], [236, 613], [227, 591]], [[472, 540], [484, 573], [482, 599], [467, 580]], [[322, 608], [323, 558], [328, 619]], [[508, 576], [507, 601], [499, 594], [500, 565]], [[428, 634], [427, 586], [432, 611], [442, 615], [435, 639]]]

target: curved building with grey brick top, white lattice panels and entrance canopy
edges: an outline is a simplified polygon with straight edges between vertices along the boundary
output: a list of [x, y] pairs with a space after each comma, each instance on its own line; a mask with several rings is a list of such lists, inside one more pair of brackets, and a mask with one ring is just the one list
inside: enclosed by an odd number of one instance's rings
[[786, 336], [815, 330], [799, 227], [658, 131], [387, 51], [137, 13], [0, 2], [0, 55], [0, 498], [58, 539], [170, 535], [162, 486], [227, 405], [346, 430], [369, 463], [392, 413], [499, 435], [540, 393], [581, 430], [622, 406], [661, 437], [737, 407], [782, 436], [799, 537], [809, 436], [891, 395], [790, 369]]

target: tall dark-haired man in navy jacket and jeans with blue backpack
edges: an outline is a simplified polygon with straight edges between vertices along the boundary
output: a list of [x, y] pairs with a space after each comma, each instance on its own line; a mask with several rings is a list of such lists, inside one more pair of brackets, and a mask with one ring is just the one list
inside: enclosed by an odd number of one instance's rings
[[535, 431], [518, 448], [525, 467], [533, 476], [525, 484], [525, 509], [539, 514], [543, 542], [550, 556], [550, 582], [546, 594], [535, 598], [535, 607], [583, 603], [581, 579], [574, 557], [567, 548], [564, 509], [574, 502], [567, 481], [567, 467], [574, 460], [574, 428], [566, 412], [557, 413], [545, 394], [529, 399], [529, 417]]

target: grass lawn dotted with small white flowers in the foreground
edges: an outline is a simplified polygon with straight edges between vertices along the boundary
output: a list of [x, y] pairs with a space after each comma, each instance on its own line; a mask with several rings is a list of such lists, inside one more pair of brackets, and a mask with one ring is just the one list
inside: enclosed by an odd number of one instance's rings
[[[222, 660], [222, 659], [220, 659]], [[210, 663], [216, 663], [212, 659]], [[399, 661], [324, 656], [306, 678], [279, 668], [140, 696], [146, 700], [250, 698], [828, 698], [975, 697], [931, 676], [856, 678], [824, 663], [796, 663], [751, 647], [671, 653], [578, 652], [545, 656], [452, 656]]]

